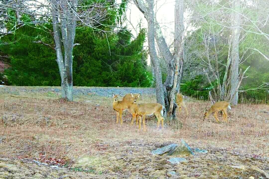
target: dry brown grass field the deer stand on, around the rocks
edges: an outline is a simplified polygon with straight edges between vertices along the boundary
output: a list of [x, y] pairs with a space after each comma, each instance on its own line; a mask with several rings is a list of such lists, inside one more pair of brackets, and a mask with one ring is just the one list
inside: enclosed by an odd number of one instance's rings
[[[165, 120], [164, 130], [147, 118], [143, 132], [130, 125], [128, 111], [123, 125], [116, 124], [111, 93], [77, 93], [74, 102], [60, 95], [51, 87], [0, 87], [0, 178], [169, 178], [169, 171], [179, 178], [266, 178], [251, 166], [269, 173], [268, 105], [239, 104], [228, 123], [222, 114], [216, 123], [213, 115], [201, 120], [207, 101], [188, 97], [189, 116], [183, 108], [179, 121]], [[140, 103], [155, 101], [154, 94], [141, 94]], [[208, 153], [181, 156], [188, 162], [178, 165], [167, 163], [169, 156], [150, 155], [181, 139]]]

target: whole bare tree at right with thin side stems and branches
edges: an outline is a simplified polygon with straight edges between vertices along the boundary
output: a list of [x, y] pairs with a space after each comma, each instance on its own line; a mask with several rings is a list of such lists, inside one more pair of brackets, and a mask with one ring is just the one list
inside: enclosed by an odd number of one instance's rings
[[[212, 101], [225, 100], [231, 102], [232, 105], [238, 103], [238, 92], [241, 82], [247, 76], [244, 76], [239, 65], [252, 57], [255, 52], [261, 54], [262, 57], [268, 59], [262, 50], [268, 45], [268, 4], [266, 1], [194, 1], [193, 2], [193, 24], [196, 24], [202, 31], [204, 50], [197, 50], [196, 56], [201, 59], [204, 66], [204, 73], [211, 85], [213, 95]], [[257, 13], [257, 21], [252, 20], [253, 13]], [[199, 33], [201, 31], [198, 31]], [[259, 45], [254, 48], [253, 42], [248, 43], [245, 40], [249, 35], [259, 36], [263, 38]], [[267, 42], [266, 42], [267, 41]], [[241, 45], [241, 46], [240, 46]], [[198, 46], [198, 45], [197, 45]], [[225, 60], [222, 50], [225, 50], [227, 59]], [[251, 50], [253, 50], [251, 52]], [[267, 50], [268, 52], [268, 50]], [[249, 55], [246, 55], [249, 54]], [[222, 73], [223, 72], [223, 73]], [[216, 84], [216, 87], [214, 84]], [[253, 89], [264, 89], [268, 83], [263, 82], [259, 87]]]

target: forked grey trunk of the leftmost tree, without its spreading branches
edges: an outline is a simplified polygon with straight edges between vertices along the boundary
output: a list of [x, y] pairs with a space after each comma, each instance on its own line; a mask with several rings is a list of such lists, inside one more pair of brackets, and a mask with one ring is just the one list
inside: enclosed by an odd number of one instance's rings
[[[76, 17], [71, 12], [72, 9], [65, 2], [52, 0], [52, 12], [56, 14], [52, 17], [53, 35], [57, 64], [61, 75], [62, 98], [73, 101], [73, 44], [76, 35]], [[77, 0], [71, 0], [72, 5], [77, 4]], [[73, 9], [75, 10], [75, 9]], [[61, 21], [59, 22], [59, 17]], [[62, 46], [64, 52], [62, 51]]]

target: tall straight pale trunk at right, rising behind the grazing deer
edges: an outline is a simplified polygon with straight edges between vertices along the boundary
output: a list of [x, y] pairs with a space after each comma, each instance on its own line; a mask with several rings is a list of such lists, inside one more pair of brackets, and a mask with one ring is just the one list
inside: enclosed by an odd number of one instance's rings
[[[237, 12], [240, 11], [240, 0], [235, 0], [232, 4]], [[239, 68], [239, 35], [240, 35], [240, 14], [232, 13], [232, 62], [231, 62], [231, 104], [237, 105], [238, 103], [238, 91], [236, 87], [238, 85], [238, 68]], [[234, 95], [235, 94], [235, 95]]]

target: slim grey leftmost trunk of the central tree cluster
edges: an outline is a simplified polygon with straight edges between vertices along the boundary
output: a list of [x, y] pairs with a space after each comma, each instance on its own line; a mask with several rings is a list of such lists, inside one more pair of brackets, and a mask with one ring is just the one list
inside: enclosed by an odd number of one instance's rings
[[165, 106], [164, 103], [164, 89], [162, 86], [162, 74], [160, 69], [160, 61], [158, 60], [156, 49], [155, 49], [155, 41], [154, 41], [154, 19], [155, 14], [153, 12], [153, 4], [154, 1], [147, 0], [148, 3], [148, 16], [147, 16], [147, 22], [148, 22], [148, 48], [150, 51], [150, 60], [154, 68], [154, 75], [155, 75], [155, 82], [156, 82], [156, 99], [157, 103], [162, 104]]

